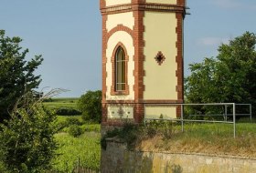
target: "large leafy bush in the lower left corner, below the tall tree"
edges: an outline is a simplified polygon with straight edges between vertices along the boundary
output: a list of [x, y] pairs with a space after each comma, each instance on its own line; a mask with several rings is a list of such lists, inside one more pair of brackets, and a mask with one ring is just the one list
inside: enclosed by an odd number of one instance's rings
[[31, 96], [22, 97], [0, 131], [0, 171], [31, 173], [51, 168], [57, 148], [54, 140], [56, 116]]

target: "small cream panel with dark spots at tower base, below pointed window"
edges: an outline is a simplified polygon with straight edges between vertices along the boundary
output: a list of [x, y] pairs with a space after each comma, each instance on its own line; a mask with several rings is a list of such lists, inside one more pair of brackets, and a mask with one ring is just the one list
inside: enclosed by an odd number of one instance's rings
[[133, 118], [133, 107], [122, 107], [123, 116], [120, 116], [120, 107], [108, 107], [109, 118]]

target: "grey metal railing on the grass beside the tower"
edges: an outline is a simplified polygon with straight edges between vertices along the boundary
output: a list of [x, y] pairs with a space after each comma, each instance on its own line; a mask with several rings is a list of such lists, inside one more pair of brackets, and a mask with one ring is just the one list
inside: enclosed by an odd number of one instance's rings
[[[236, 137], [236, 117], [237, 116], [248, 116], [251, 117], [251, 104], [236, 104], [236, 103], [207, 103], [207, 104], [145, 104], [144, 107], [181, 107], [180, 118], [144, 118], [144, 121], [150, 120], [170, 120], [170, 121], [180, 121], [181, 129], [184, 132], [185, 122], [205, 122], [205, 123], [223, 123], [223, 124], [233, 124], [233, 137]], [[224, 106], [224, 114], [208, 114], [208, 115], [190, 115], [190, 116], [223, 116], [224, 120], [197, 120], [197, 119], [186, 119], [184, 118], [184, 107], [186, 106]], [[232, 107], [232, 113], [228, 113], [228, 107]], [[236, 106], [249, 107], [249, 113], [236, 114]], [[232, 117], [231, 121], [228, 121], [228, 117]]]

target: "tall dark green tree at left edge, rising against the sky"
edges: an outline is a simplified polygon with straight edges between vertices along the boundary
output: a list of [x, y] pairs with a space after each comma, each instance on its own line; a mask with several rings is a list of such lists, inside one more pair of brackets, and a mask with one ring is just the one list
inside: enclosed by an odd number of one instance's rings
[[0, 30], [0, 121], [9, 116], [8, 112], [19, 97], [37, 88], [41, 82], [34, 72], [43, 58], [35, 56], [26, 61], [28, 49], [22, 50], [21, 41], [17, 36], [5, 36], [5, 31]]

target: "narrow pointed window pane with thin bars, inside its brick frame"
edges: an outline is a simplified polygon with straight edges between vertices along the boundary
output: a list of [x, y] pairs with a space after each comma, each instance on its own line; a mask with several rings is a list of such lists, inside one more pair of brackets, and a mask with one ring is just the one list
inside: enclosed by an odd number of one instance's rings
[[115, 91], [124, 91], [126, 86], [125, 53], [122, 46], [118, 46], [115, 52]]

